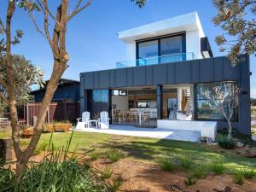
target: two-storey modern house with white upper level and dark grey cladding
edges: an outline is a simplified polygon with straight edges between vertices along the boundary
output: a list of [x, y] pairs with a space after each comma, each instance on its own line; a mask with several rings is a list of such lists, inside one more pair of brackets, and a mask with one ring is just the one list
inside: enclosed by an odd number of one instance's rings
[[80, 111], [108, 111], [112, 124], [205, 131], [227, 127], [203, 96], [216, 84], [241, 88], [233, 117], [237, 130], [250, 134], [249, 59], [231, 67], [213, 57], [196, 12], [118, 32], [126, 45], [116, 68], [80, 73]]

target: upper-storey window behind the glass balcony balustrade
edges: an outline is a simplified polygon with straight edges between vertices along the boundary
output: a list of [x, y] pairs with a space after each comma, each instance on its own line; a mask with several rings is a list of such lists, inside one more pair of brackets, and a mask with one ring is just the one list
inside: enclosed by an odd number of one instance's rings
[[183, 61], [185, 58], [182, 53], [184, 52], [184, 34], [137, 42], [137, 65]]

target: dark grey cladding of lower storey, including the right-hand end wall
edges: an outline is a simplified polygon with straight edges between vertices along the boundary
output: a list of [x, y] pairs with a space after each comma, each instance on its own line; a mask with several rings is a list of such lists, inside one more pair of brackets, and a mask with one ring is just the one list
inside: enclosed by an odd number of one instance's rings
[[[238, 127], [244, 133], [250, 132], [250, 67], [245, 56], [237, 67], [231, 67], [226, 57], [214, 57], [194, 61], [172, 62], [145, 67], [127, 67], [89, 73], [81, 73], [80, 96], [83, 90], [111, 89], [140, 85], [196, 84], [219, 81], [236, 81], [244, 90], [239, 96]], [[82, 81], [82, 79], [81, 79]], [[82, 100], [82, 99], [81, 99]], [[81, 105], [85, 105], [81, 101]], [[81, 107], [81, 111], [82, 107]], [[236, 123], [237, 124], [237, 123]], [[224, 125], [224, 122], [219, 123]]]

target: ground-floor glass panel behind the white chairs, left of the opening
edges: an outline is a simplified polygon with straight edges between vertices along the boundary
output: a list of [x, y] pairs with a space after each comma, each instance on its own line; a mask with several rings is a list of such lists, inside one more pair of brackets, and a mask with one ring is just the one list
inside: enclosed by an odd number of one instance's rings
[[88, 101], [90, 113], [109, 110], [109, 90], [91, 90]]

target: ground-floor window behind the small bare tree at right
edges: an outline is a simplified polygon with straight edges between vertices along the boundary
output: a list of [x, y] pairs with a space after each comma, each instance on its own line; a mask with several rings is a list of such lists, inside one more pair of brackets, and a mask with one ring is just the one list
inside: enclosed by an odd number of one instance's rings
[[[210, 90], [210, 93], [213, 95], [215, 91], [213, 88], [216, 86], [220, 86], [222, 91], [229, 91], [229, 87], [225, 86], [226, 83], [207, 83], [207, 84], [197, 84], [197, 116], [198, 119], [224, 119], [224, 116], [218, 109], [217, 104], [212, 103], [207, 96], [205, 96], [205, 92]], [[234, 84], [236, 84], [234, 82]], [[225, 90], [224, 90], [225, 89]], [[217, 101], [218, 102], [218, 101]], [[238, 119], [238, 110], [235, 110], [233, 120]]]

